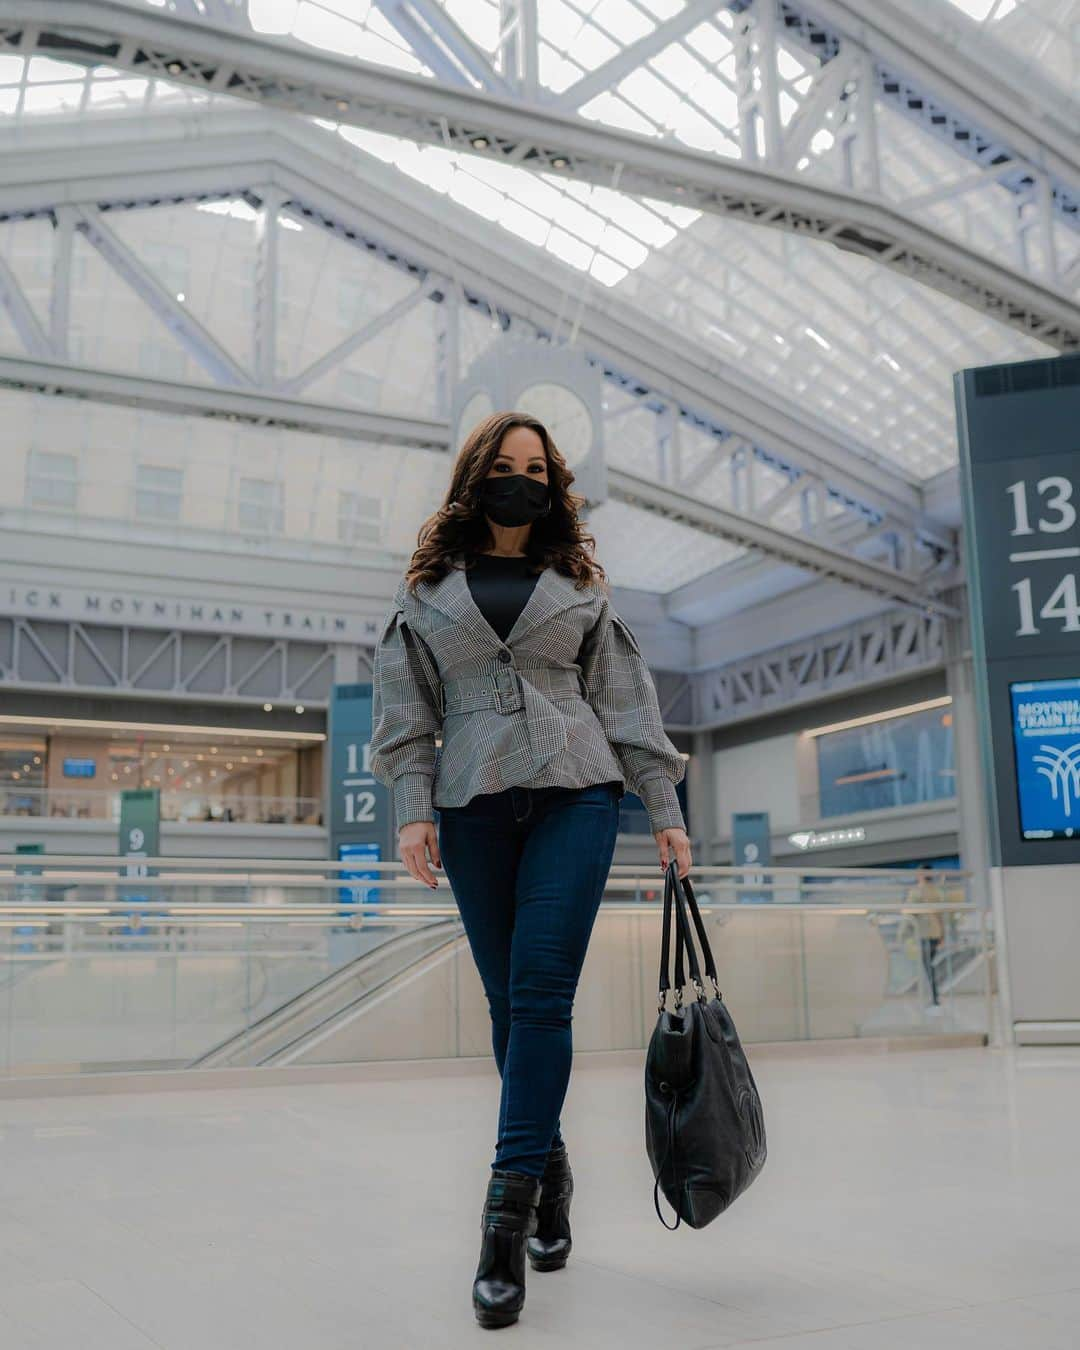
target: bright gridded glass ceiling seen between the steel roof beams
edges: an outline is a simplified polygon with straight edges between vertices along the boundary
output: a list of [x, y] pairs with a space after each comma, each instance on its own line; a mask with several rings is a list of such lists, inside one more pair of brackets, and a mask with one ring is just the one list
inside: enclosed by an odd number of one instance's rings
[[[988, 45], [1022, 42], [1023, 51], [1041, 50], [1053, 66], [1050, 77], [1076, 92], [1080, 0], [932, 3], [942, 19], [976, 20]], [[494, 61], [495, 0], [446, 0], [444, 8]], [[537, 8], [539, 74], [543, 97], [552, 100], [682, 12], [684, 0], [543, 0]], [[432, 74], [369, 0], [248, 0], [248, 12], [262, 32]], [[919, 0], [919, 14], [925, 18], [926, 0]], [[730, 12], [721, 9], [597, 93], [580, 115], [738, 158], [733, 26]], [[782, 46], [776, 73], [784, 126], [817, 69], [807, 51]], [[0, 57], [0, 115], [14, 119], [211, 103], [223, 111], [236, 107], [107, 68], [86, 72], [46, 58]], [[875, 111], [884, 197], [1014, 265], [1013, 194], [990, 185], [940, 196], [937, 189], [971, 177], [971, 163], [884, 104]], [[363, 128], [321, 126], [358, 155], [374, 155], [423, 184], [433, 204], [448, 197], [498, 224], [521, 240], [522, 259], [536, 250], [543, 266], [543, 252], [554, 254], [587, 278], [598, 298], [605, 292], [620, 297], [674, 346], [693, 338], [728, 373], [778, 390], [867, 458], [913, 479], [956, 460], [954, 370], [1052, 355], [1042, 343], [829, 244]], [[815, 134], [798, 171], [842, 185], [844, 169], [842, 124], [834, 120]], [[923, 197], [933, 200], [921, 202]], [[1030, 235], [1029, 261], [1038, 270], [1042, 240], [1037, 231]], [[1080, 235], [1061, 225], [1053, 238], [1061, 270], [1072, 267], [1080, 290]], [[568, 279], [564, 286], [570, 294]]]

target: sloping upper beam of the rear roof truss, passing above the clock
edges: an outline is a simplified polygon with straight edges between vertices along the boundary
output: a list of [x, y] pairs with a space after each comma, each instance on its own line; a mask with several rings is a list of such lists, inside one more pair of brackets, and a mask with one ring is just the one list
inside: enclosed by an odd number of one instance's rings
[[[558, 332], [562, 296], [579, 274], [545, 256], [544, 275], [521, 262], [517, 240], [464, 208], [433, 198], [423, 185], [356, 153], [317, 127], [270, 122], [261, 113], [198, 119], [197, 135], [176, 139], [169, 122], [84, 127], [77, 147], [54, 131], [20, 132], [0, 154], [0, 215], [47, 215], [57, 202], [123, 209], [236, 197], [252, 184], [279, 188], [300, 216], [379, 254], [417, 281], [452, 275], [470, 302], [490, 302], [545, 332]], [[189, 123], [189, 126], [192, 126]], [[163, 132], [165, 139], [155, 134]], [[96, 135], [94, 135], [96, 132]], [[108, 211], [104, 212], [105, 219]], [[817, 475], [842, 498], [911, 528], [927, 526], [919, 487], [882, 456], [788, 404], [774, 387], [687, 346], [660, 324], [641, 331], [641, 315], [617, 296], [597, 296], [579, 342], [649, 397], [678, 402], [683, 417], [718, 439], [734, 433], [794, 473]]]

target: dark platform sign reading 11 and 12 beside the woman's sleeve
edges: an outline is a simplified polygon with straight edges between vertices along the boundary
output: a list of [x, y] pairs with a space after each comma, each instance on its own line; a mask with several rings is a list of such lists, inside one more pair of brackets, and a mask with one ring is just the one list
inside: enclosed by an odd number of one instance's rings
[[329, 856], [340, 845], [379, 844], [393, 857], [390, 794], [371, 772], [371, 686], [335, 684], [329, 705]]

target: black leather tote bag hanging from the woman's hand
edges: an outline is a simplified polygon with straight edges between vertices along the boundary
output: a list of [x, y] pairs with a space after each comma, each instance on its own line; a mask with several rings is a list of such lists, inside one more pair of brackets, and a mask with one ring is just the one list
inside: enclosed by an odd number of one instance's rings
[[[706, 996], [701, 983], [687, 910], [694, 919], [714, 998]], [[672, 914], [676, 925], [675, 1007], [667, 1008]], [[697, 990], [697, 998], [686, 1007], [682, 1006], [683, 945]], [[683, 1219], [691, 1228], [703, 1228], [764, 1166], [765, 1122], [757, 1084], [717, 984], [717, 968], [690, 878], [679, 879], [674, 859], [664, 876], [657, 1010], [645, 1054], [645, 1148], [656, 1177], [652, 1203], [666, 1228], [674, 1231]], [[675, 1223], [660, 1214], [660, 1189], [675, 1210]]]

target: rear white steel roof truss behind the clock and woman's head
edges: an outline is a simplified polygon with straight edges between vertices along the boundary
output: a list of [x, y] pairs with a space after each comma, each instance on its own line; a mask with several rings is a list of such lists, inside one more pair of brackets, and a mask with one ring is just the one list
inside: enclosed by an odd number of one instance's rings
[[[292, 387], [288, 379], [262, 387], [258, 371], [248, 370], [239, 371], [238, 381], [232, 369], [223, 366], [209, 335], [204, 344], [196, 325], [176, 327], [186, 310], [178, 315], [165, 289], [144, 275], [146, 269], [120, 246], [108, 219], [119, 211], [221, 197], [244, 197], [259, 211], [270, 209], [275, 219], [288, 212], [350, 246], [378, 252], [416, 278], [416, 297], [451, 317], [456, 297], [459, 304], [490, 315], [500, 328], [513, 324], [522, 333], [558, 339], [558, 289], [551, 277], [539, 278], [522, 267], [497, 230], [487, 227], [491, 238], [478, 238], [483, 231], [470, 223], [466, 234], [452, 213], [435, 217], [420, 189], [389, 170], [382, 181], [377, 171], [369, 171], [363, 184], [355, 182], [324, 153], [325, 140], [316, 128], [293, 126], [286, 134], [267, 131], [258, 119], [239, 128], [221, 122], [231, 119], [216, 117], [204, 135], [171, 143], [154, 143], [144, 130], [117, 138], [112, 128], [100, 146], [84, 143], [77, 151], [34, 146], [8, 155], [1, 173], [9, 215], [63, 219], [73, 231], [86, 234], [173, 327], [208, 377], [223, 381], [224, 387], [113, 375], [55, 359], [31, 359], [30, 354], [0, 363], [0, 379], [14, 387], [72, 397], [397, 444], [437, 441], [446, 448], [448, 431], [436, 421], [320, 408], [297, 397], [302, 387], [296, 387], [296, 377]], [[387, 182], [396, 190], [389, 190]], [[258, 336], [258, 325], [267, 323], [273, 309], [275, 250], [266, 238], [263, 231], [259, 288], [267, 298], [255, 306], [256, 354], [266, 352], [269, 344], [266, 335]], [[363, 332], [370, 336], [371, 325]], [[62, 343], [62, 329], [54, 336]], [[756, 393], [752, 379], [725, 381], [710, 364], [698, 366], [693, 350], [679, 346], [678, 335], [664, 336], [659, 325], [643, 333], [639, 316], [617, 297], [608, 297], [601, 312], [585, 316], [576, 338], [626, 406], [648, 409], [655, 418], [657, 481], [614, 460], [613, 495], [811, 572], [864, 586], [892, 602], [933, 602], [954, 566], [956, 541], [922, 516], [918, 487], [882, 466], [871, 468], [828, 429], [784, 409], [778, 396]], [[348, 339], [346, 346], [351, 343]], [[332, 356], [328, 352], [323, 360]], [[261, 360], [266, 377], [273, 363], [266, 355]], [[694, 467], [680, 464], [680, 428], [686, 436], [703, 435], [713, 447]], [[714, 490], [716, 485], [722, 487]]]

